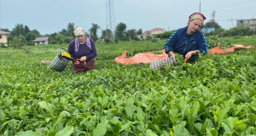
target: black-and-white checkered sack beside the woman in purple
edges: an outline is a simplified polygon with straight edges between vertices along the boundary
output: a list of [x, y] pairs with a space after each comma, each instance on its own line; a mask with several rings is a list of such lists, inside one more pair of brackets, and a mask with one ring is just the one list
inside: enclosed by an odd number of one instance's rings
[[68, 64], [68, 59], [61, 57], [61, 52], [67, 52], [65, 49], [60, 48], [57, 56], [53, 59], [48, 68], [62, 72]]

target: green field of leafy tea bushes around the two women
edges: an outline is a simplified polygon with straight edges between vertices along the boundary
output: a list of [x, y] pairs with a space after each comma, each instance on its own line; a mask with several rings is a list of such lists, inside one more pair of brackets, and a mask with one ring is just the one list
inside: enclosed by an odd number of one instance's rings
[[[256, 47], [255, 36], [227, 40]], [[256, 48], [194, 63], [177, 54], [177, 67], [158, 71], [114, 62], [165, 41], [96, 43], [95, 68], [79, 74], [71, 62], [61, 73], [40, 63], [68, 44], [0, 48], [0, 135], [255, 135]]]

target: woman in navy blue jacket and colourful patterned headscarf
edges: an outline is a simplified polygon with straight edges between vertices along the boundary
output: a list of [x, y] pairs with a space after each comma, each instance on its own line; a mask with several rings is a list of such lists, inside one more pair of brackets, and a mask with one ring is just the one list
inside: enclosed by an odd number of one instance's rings
[[183, 59], [187, 58], [190, 61], [195, 60], [196, 52], [206, 54], [208, 44], [204, 34], [198, 31], [205, 19], [206, 17], [201, 13], [196, 12], [190, 15], [188, 26], [177, 29], [165, 42], [165, 52], [174, 59], [174, 53], [178, 53], [183, 55]]

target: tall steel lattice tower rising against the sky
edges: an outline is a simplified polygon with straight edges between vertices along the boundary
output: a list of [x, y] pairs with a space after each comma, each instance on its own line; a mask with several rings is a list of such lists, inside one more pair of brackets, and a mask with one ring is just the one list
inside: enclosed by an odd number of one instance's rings
[[113, 43], [115, 32], [115, 13], [113, 0], [106, 0], [106, 38]]

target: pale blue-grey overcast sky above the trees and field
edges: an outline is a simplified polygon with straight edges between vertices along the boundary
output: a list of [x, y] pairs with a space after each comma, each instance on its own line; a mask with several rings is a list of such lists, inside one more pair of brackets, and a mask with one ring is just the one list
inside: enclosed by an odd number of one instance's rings
[[[224, 29], [235, 27], [236, 20], [256, 18], [256, 0], [113, 0], [115, 25], [122, 22], [126, 30], [143, 32], [182, 28], [192, 13], [199, 12], [200, 2], [204, 23], [215, 11], [214, 19]], [[0, 0], [0, 28], [23, 24], [44, 35], [66, 29], [68, 23], [87, 32], [92, 23], [105, 29], [106, 0]]]

